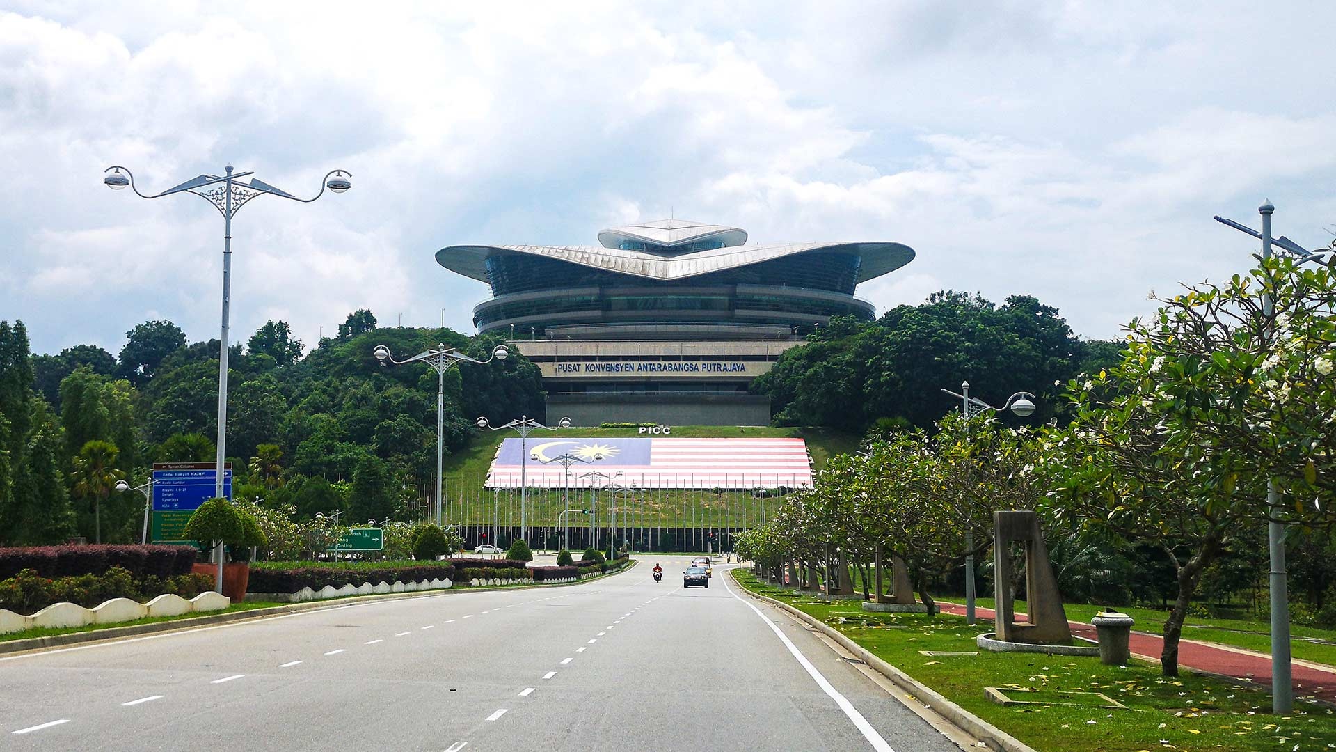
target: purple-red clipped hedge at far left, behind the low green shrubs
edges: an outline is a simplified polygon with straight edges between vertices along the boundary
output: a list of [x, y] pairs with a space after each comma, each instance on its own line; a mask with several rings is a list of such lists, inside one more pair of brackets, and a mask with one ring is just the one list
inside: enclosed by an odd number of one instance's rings
[[120, 567], [134, 577], [190, 574], [194, 546], [25, 546], [0, 549], [0, 579], [31, 569], [40, 577], [103, 574]]

